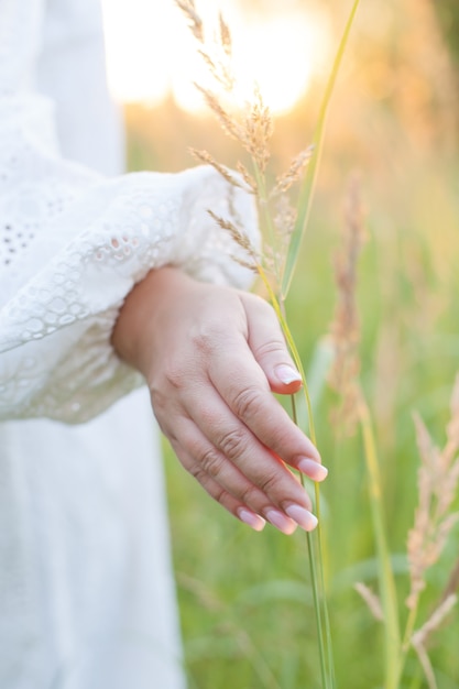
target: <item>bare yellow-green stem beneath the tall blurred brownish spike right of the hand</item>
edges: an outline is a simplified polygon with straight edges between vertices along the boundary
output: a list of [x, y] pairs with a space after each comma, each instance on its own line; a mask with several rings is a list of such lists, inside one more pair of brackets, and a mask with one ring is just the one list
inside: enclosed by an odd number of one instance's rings
[[370, 490], [371, 514], [376, 542], [381, 603], [384, 612], [385, 646], [385, 689], [397, 689], [401, 675], [401, 633], [397, 612], [395, 581], [385, 535], [381, 477], [379, 470], [376, 444], [370, 412], [361, 393], [360, 423], [363, 436], [364, 456]]

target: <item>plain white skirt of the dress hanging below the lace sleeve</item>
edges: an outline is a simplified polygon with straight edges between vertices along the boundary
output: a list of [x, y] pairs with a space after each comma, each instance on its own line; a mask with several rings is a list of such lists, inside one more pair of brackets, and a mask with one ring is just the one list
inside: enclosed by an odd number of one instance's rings
[[0, 686], [183, 689], [146, 389], [81, 426], [0, 426]]

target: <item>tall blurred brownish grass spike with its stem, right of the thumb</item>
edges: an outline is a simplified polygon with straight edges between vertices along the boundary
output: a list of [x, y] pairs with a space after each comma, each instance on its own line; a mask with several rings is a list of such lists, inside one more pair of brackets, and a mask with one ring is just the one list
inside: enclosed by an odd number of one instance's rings
[[[382, 481], [378, 457], [378, 444], [373, 430], [370, 407], [361, 389], [360, 374], [360, 324], [357, 306], [357, 269], [365, 233], [362, 222], [360, 185], [351, 178], [342, 247], [335, 262], [337, 305], [329, 329], [329, 339], [335, 349], [335, 359], [328, 376], [330, 386], [340, 395], [340, 428], [349, 434], [360, 425], [363, 438], [370, 494], [371, 516], [378, 556], [379, 598], [384, 623], [384, 672], [385, 689], [397, 689], [400, 677], [401, 632], [396, 587], [392, 570], [391, 554], [386, 536], [385, 514], [382, 497]], [[365, 595], [368, 593], [365, 592]]]

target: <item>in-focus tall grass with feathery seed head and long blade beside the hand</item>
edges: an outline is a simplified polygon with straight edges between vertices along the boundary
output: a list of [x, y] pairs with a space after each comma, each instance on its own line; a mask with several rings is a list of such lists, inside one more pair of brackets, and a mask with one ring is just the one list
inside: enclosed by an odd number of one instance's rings
[[[216, 86], [223, 89], [227, 94], [232, 90], [234, 79], [231, 69], [231, 34], [229, 28], [225, 23], [220, 15], [220, 30], [217, 51], [209, 50], [205, 41], [204, 24], [196, 11], [194, 0], [176, 0], [176, 4], [185, 13], [189, 28], [198, 42], [199, 53], [205, 59], [206, 65], [210, 69], [210, 74], [215, 79]], [[288, 287], [293, 278], [294, 269], [297, 262], [298, 253], [303, 237], [306, 232], [309, 210], [314, 196], [315, 179], [317, 176], [321, 146], [325, 138], [326, 118], [329, 110], [331, 95], [335, 89], [336, 80], [338, 77], [339, 68], [342, 63], [342, 57], [348, 43], [350, 30], [359, 7], [359, 0], [354, 0], [348, 21], [346, 23], [345, 32], [339, 42], [336, 58], [330, 72], [330, 76], [326, 84], [323, 102], [319, 110], [318, 121], [316, 124], [314, 135], [314, 151], [303, 155], [302, 163], [294, 161], [291, 171], [283, 178], [277, 179], [277, 189], [269, 189], [266, 184], [266, 164], [270, 158], [270, 138], [272, 135], [272, 119], [269, 109], [264, 106], [262, 95], [259, 89], [254, 88], [253, 102], [249, 105], [245, 111], [242, 122], [237, 121], [232, 112], [225, 109], [222, 101], [219, 97], [203, 87], [198, 87], [203, 92], [207, 103], [210, 106], [214, 114], [220, 121], [225, 132], [231, 138], [236, 139], [242, 147], [249, 153], [253, 173], [251, 174], [248, 168], [240, 163], [238, 168], [242, 175], [242, 178], [250, 190], [254, 194], [259, 208], [261, 210], [262, 230], [264, 229], [263, 237], [265, 239], [265, 248], [262, 256], [248, 245], [247, 237], [243, 234], [243, 228], [238, 227], [237, 219], [234, 221], [228, 221], [222, 218], [212, 217], [216, 221], [227, 231], [230, 231], [233, 239], [245, 250], [248, 261], [245, 264], [250, 265], [261, 277], [262, 283], [267, 292], [269, 299], [274, 307], [277, 315], [281, 328], [284, 332], [285, 340], [291, 350], [295, 364], [302, 375], [303, 380], [303, 394], [305, 395], [307, 416], [308, 416], [308, 433], [310, 439], [317, 445], [317, 438], [314, 427], [313, 408], [309, 397], [307, 381], [304, 372], [304, 367], [298, 354], [294, 338], [288, 327], [285, 317], [285, 299], [287, 296]], [[215, 47], [215, 46], [214, 46]], [[201, 162], [210, 163], [215, 168], [222, 174], [230, 183], [240, 184], [232, 176], [231, 173], [226, 171], [223, 166], [215, 161], [207, 152], [196, 152], [198, 160]], [[312, 160], [309, 160], [312, 158]], [[304, 164], [309, 163], [304, 182], [298, 195], [297, 207], [294, 209], [295, 220], [294, 225], [288, 228], [288, 242], [285, 251], [285, 255], [280, 255], [278, 247], [282, 243], [282, 232], [276, 227], [275, 219], [270, 209], [270, 201], [273, 200], [278, 189], [285, 192], [293, 183], [300, 181]], [[267, 251], [266, 251], [267, 249]], [[274, 282], [274, 286], [272, 285]], [[297, 423], [295, 400], [292, 398], [293, 419]], [[304, 481], [302, 477], [302, 481]], [[324, 556], [323, 556], [323, 526], [320, 520], [320, 491], [318, 483], [315, 483], [315, 511], [319, 520], [319, 525], [315, 533], [308, 533], [307, 549], [309, 556], [309, 571], [312, 579], [312, 588], [314, 594], [314, 606], [317, 624], [318, 636], [318, 649], [320, 661], [320, 675], [323, 689], [335, 689], [335, 664], [332, 656], [331, 632], [327, 606], [327, 595], [325, 588], [325, 573], [324, 573]]]

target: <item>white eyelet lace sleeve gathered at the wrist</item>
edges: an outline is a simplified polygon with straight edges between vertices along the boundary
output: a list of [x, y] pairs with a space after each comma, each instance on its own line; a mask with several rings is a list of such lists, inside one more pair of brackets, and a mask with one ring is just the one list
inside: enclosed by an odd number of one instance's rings
[[255, 242], [254, 206], [207, 166], [105, 178], [63, 160], [52, 103], [11, 88], [8, 75], [2, 64], [0, 419], [79, 423], [141, 383], [110, 335], [149, 270], [174, 264], [199, 280], [250, 283], [207, 209], [236, 214]]

